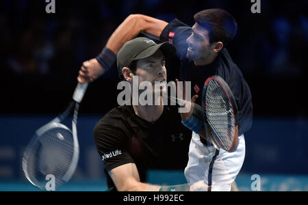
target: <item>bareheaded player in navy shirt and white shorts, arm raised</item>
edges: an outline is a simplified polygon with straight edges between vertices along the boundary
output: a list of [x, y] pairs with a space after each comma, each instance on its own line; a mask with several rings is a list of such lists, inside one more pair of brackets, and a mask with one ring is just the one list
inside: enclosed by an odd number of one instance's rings
[[[251, 128], [253, 117], [250, 89], [226, 49], [237, 32], [237, 23], [227, 11], [221, 9], [198, 12], [194, 20], [194, 26], [189, 27], [177, 19], [166, 23], [142, 14], [128, 16], [114, 31], [100, 55], [84, 62], [77, 79], [80, 83], [97, 79], [112, 67], [123, 43], [140, 32], [175, 46], [181, 66], [170, 69], [178, 71], [181, 81], [191, 81], [192, 94], [202, 93], [207, 77], [214, 74], [222, 77], [238, 104], [238, 149], [233, 153], [215, 150], [203, 137], [193, 132], [185, 176], [192, 190], [229, 191], [244, 162], [244, 133]], [[199, 105], [200, 100], [197, 100]]]

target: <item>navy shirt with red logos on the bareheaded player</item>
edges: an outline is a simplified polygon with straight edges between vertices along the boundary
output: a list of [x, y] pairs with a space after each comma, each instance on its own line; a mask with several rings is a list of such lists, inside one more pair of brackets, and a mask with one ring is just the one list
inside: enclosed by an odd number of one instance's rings
[[[181, 81], [192, 82], [192, 96], [198, 94], [199, 97], [196, 101], [198, 105], [201, 105], [203, 85], [208, 77], [218, 75], [227, 82], [238, 105], [239, 135], [242, 135], [251, 128], [253, 120], [251, 90], [242, 72], [231, 59], [227, 49], [222, 49], [218, 57], [211, 64], [207, 66], [195, 66], [194, 62], [186, 57], [188, 49], [186, 39], [191, 34], [191, 27], [174, 19], [164, 28], [159, 39], [162, 42], [172, 42], [177, 49], [177, 57], [181, 60], [179, 79]], [[168, 69], [173, 70], [176, 68], [169, 66]]]

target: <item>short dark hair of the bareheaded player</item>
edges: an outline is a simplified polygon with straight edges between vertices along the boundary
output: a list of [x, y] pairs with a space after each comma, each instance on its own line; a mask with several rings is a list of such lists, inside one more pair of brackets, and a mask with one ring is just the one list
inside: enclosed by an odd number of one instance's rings
[[209, 42], [221, 41], [227, 46], [233, 40], [238, 24], [229, 12], [222, 9], [209, 9], [194, 15], [198, 25], [209, 31]]

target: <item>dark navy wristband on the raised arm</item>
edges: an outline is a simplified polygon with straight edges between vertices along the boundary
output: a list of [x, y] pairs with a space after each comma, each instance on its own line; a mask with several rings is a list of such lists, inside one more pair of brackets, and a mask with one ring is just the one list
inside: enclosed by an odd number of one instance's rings
[[110, 70], [116, 61], [116, 53], [104, 47], [101, 53], [95, 57], [104, 71]]

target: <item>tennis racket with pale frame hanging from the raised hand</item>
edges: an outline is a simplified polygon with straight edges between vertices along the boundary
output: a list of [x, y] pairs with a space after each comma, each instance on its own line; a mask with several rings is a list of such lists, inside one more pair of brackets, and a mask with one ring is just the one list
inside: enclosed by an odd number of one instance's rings
[[[57, 189], [75, 172], [79, 159], [77, 114], [87, 87], [88, 83], [78, 83], [66, 111], [39, 128], [25, 149], [23, 172], [27, 180], [39, 189], [48, 190], [47, 176], [54, 176], [54, 188]], [[62, 122], [73, 109], [72, 129], [69, 129]]]

